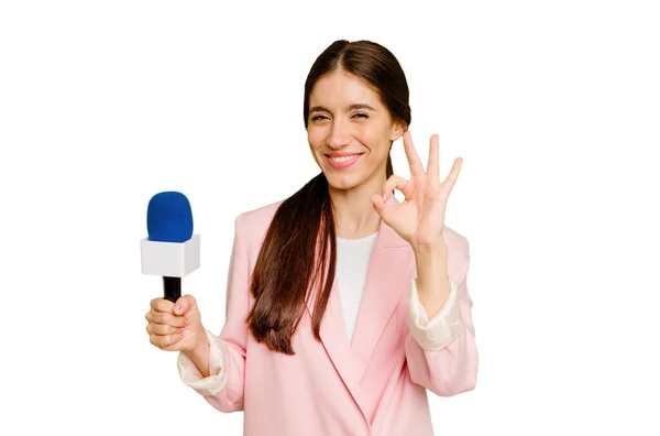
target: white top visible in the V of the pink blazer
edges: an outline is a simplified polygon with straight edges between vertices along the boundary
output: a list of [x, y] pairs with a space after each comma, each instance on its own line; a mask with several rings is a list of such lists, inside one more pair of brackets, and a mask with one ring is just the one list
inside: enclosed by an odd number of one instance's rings
[[336, 280], [349, 342], [353, 337], [358, 309], [366, 281], [369, 260], [378, 232], [361, 239], [337, 238]]

